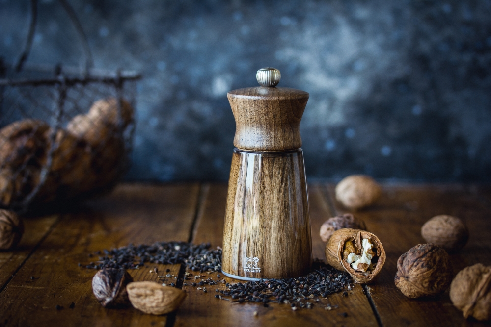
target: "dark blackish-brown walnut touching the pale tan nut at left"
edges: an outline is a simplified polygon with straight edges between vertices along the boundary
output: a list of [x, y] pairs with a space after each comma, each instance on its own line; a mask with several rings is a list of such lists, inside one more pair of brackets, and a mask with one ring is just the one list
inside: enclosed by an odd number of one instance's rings
[[124, 268], [104, 268], [92, 278], [92, 291], [102, 306], [123, 307], [129, 304], [126, 285], [132, 281]]

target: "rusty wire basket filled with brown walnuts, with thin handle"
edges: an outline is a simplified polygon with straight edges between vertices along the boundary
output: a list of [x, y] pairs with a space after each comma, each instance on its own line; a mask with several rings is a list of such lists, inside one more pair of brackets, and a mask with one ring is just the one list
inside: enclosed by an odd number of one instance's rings
[[[24, 64], [36, 22], [16, 65], [0, 59], [0, 207], [79, 200], [109, 191], [129, 166], [140, 75], [91, 69], [86, 38], [71, 7], [58, 0], [81, 34], [85, 67]], [[72, 17], [73, 16], [73, 17]]]

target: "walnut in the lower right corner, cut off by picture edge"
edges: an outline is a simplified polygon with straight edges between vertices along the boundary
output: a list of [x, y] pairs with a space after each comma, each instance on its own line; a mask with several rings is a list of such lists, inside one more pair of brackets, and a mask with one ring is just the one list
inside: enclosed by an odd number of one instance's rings
[[461, 270], [450, 284], [450, 300], [464, 318], [491, 319], [491, 267], [480, 263]]

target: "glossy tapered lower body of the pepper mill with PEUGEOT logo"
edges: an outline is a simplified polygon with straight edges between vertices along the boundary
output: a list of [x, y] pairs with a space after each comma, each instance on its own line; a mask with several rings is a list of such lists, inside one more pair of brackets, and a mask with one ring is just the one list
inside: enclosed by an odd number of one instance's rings
[[234, 150], [222, 270], [248, 278], [304, 275], [312, 262], [302, 151]]

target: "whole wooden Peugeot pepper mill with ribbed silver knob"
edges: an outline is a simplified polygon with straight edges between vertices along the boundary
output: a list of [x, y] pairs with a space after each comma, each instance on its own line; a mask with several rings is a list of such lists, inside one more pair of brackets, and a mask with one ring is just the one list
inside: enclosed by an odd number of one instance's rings
[[262, 68], [260, 87], [227, 93], [236, 130], [223, 230], [222, 273], [243, 280], [292, 278], [312, 264], [300, 119], [309, 94], [275, 87]]

